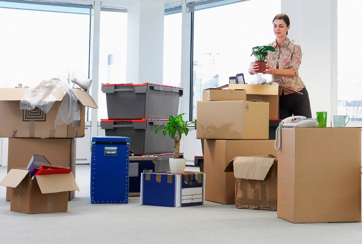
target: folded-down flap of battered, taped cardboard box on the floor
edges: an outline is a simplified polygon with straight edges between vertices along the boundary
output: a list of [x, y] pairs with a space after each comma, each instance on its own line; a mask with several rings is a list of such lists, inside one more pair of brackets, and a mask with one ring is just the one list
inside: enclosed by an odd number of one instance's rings
[[228, 163], [224, 172], [233, 171], [235, 178], [264, 180], [274, 162], [273, 157], [235, 157]]

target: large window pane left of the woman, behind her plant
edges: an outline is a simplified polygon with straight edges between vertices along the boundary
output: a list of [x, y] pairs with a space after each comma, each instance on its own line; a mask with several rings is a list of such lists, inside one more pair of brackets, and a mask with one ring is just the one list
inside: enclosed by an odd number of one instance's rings
[[272, 20], [280, 10], [281, 0], [251, 0], [194, 12], [192, 119], [203, 89], [225, 85], [237, 73], [254, 80], [248, 73], [252, 47], [275, 40]]

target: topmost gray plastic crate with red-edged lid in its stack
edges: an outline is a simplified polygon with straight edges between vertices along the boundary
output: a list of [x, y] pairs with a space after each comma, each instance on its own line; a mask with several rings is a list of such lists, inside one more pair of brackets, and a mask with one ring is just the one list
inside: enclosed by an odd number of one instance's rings
[[102, 84], [109, 119], [168, 119], [177, 116], [184, 88], [153, 83]]

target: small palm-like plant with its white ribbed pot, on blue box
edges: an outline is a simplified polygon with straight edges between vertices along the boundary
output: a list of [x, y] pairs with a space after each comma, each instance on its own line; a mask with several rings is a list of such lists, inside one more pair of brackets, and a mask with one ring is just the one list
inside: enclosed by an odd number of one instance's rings
[[[157, 135], [157, 132], [159, 130], [160, 126], [165, 126], [162, 129], [162, 134], [166, 136], [167, 132], [171, 139], [174, 140], [174, 148], [173, 148], [173, 159], [169, 159], [170, 164], [170, 171], [173, 174], [182, 174], [184, 173], [185, 166], [186, 166], [186, 159], [180, 158], [180, 140], [182, 134], [185, 134], [187, 136], [189, 132], [188, 125], [191, 124], [198, 124], [196, 121], [187, 123], [187, 121], [182, 120], [182, 115], [177, 115], [176, 118], [174, 118], [172, 115], [170, 115], [168, 121], [164, 123], [163, 125], [159, 125], [155, 129], [155, 134]], [[200, 125], [200, 124], [199, 124]], [[202, 127], [202, 125], [200, 125]], [[202, 127], [203, 129], [203, 127]]]

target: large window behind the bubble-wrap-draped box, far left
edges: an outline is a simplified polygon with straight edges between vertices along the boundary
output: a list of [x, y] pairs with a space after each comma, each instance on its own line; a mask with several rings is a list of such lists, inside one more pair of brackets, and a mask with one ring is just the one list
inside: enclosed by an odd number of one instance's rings
[[0, 88], [88, 77], [90, 6], [61, 5], [0, 1]]

